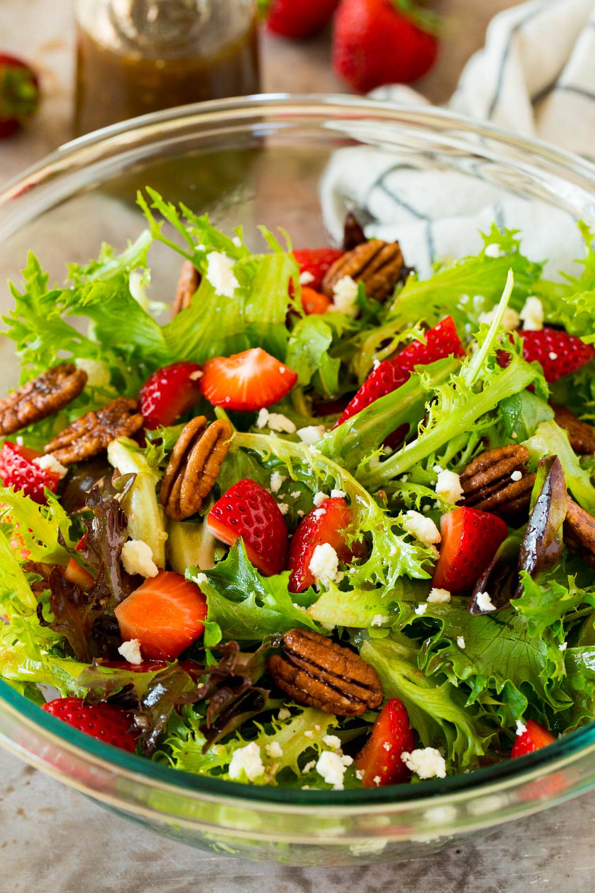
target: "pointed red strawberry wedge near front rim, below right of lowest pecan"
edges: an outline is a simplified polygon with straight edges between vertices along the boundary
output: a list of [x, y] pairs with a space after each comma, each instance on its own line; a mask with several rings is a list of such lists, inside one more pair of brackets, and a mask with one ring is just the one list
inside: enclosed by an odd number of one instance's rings
[[362, 787], [379, 788], [408, 780], [411, 772], [401, 760], [401, 754], [410, 753], [415, 746], [405, 705], [398, 697], [392, 697], [382, 708], [368, 741], [355, 758], [359, 772], [363, 772]]

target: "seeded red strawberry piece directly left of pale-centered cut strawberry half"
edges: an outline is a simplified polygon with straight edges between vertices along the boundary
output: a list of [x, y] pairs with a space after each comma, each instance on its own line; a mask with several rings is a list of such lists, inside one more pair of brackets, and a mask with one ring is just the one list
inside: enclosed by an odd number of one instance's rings
[[201, 398], [201, 366], [172, 363], [153, 372], [140, 389], [138, 401], [145, 428], [173, 425]]

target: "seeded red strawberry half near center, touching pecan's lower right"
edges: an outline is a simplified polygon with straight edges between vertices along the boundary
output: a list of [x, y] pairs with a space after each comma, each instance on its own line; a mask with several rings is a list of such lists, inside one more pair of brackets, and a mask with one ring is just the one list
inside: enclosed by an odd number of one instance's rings
[[285, 570], [287, 527], [279, 506], [255, 480], [238, 480], [211, 508], [209, 530], [227, 546], [240, 537], [254, 567], [270, 577]]

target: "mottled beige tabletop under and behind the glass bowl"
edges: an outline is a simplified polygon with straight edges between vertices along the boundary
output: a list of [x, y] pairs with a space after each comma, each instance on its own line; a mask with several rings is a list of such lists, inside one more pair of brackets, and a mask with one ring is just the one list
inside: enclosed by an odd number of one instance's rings
[[[450, 96], [483, 43], [487, 21], [514, 0], [438, 0], [451, 36], [417, 87]], [[69, 138], [70, 0], [0, 0], [0, 48], [27, 55], [43, 73], [45, 103], [28, 133], [0, 143], [0, 184]], [[343, 90], [327, 64], [327, 37], [308, 45], [264, 39], [264, 88]], [[408, 863], [299, 869], [204, 854], [124, 822], [0, 751], [0, 891], [8, 893], [591, 893], [595, 797], [492, 832], [481, 842]]]

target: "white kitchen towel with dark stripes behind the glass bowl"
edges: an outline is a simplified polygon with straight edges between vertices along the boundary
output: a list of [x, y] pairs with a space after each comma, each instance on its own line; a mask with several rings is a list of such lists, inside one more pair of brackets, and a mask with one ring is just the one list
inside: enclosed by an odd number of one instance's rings
[[[427, 102], [402, 85], [372, 96]], [[531, 0], [496, 15], [447, 107], [595, 160], [595, 0]], [[481, 179], [469, 188], [463, 174], [445, 181], [440, 172], [395, 164], [376, 149], [335, 154], [323, 179], [322, 205], [335, 238], [344, 212], [356, 207], [368, 236], [399, 238], [407, 263], [424, 275], [436, 258], [479, 250], [478, 230], [494, 220], [523, 230], [524, 250], [535, 260], [549, 257], [550, 274], [569, 256], [583, 254], [566, 214], [503, 196]]]

